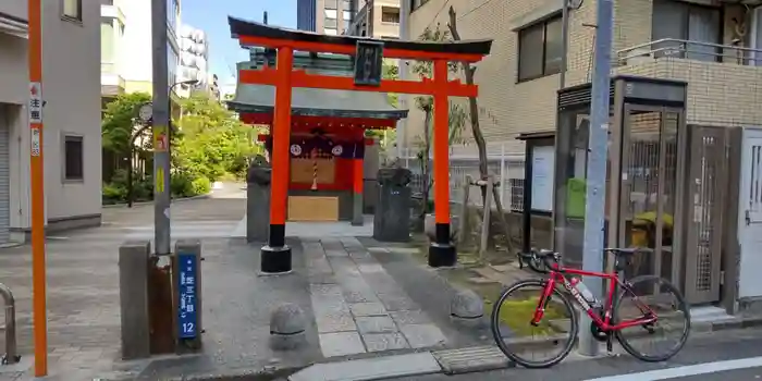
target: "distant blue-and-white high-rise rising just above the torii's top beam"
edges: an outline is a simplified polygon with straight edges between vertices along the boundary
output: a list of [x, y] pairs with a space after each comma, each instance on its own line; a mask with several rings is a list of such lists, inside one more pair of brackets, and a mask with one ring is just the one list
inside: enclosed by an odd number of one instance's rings
[[296, 28], [324, 35], [345, 34], [352, 22], [351, 0], [297, 0]]

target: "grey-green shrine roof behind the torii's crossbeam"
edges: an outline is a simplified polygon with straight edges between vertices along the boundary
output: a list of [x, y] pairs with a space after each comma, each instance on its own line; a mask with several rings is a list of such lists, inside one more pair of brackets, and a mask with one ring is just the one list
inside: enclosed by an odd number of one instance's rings
[[[238, 69], [260, 67], [261, 62], [241, 62]], [[315, 72], [346, 75], [343, 71], [318, 70]], [[385, 93], [329, 90], [320, 88], [292, 89], [292, 114], [329, 118], [402, 119], [407, 110], [389, 103]], [[272, 113], [275, 103], [275, 88], [268, 85], [238, 83], [235, 97], [228, 101], [228, 108], [239, 112]]]

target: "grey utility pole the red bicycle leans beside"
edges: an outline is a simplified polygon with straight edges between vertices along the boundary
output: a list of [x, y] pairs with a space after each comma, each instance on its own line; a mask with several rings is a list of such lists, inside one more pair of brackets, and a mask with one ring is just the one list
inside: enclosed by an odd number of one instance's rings
[[[606, 197], [606, 160], [609, 143], [609, 86], [611, 83], [611, 49], [614, 23], [613, 0], [598, 0], [598, 25], [595, 27], [595, 51], [592, 72], [592, 102], [588, 140], [588, 179], [585, 206], [585, 244], [582, 268], [587, 271], [603, 270], [603, 225]], [[612, 179], [618, 180], [613, 174]], [[602, 282], [587, 276], [585, 284], [601, 299]], [[590, 318], [581, 314], [579, 330], [579, 354], [598, 355], [598, 342], [590, 332]]]

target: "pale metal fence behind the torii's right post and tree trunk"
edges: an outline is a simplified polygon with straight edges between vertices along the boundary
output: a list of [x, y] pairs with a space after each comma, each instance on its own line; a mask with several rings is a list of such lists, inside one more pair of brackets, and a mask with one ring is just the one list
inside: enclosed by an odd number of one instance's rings
[[[487, 146], [488, 171], [494, 175], [500, 184], [499, 193], [501, 204], [506, 210], [520, 211], [524, 207], [524, 155], [506, 153], [504, 144], [490, 144]], [[515, 146], [513, 146], [515, 147]], [[421, 165], [416, 153], [418, 150], [403, 150], [400, 159], [403, 167], [413, 172], [414, 194], [418, 197], [422, 194], [423, 177]], [[476, 146], [451, 147], [450, 149], [450, 201], [460, 204], [463, 200], [464, 184], [466, 176], [479, 179], [479, 155]], [[433, 175], [433, 152], [429, 158], [429, 173]], [[469, 204], [481, 206], [482, 200], [477, 186], [471, 186], [469, 193]], [[433, 199], [433, 188], [429, 193], [429, 198]], [[493, 202], [494, 206], [494, 202]]]

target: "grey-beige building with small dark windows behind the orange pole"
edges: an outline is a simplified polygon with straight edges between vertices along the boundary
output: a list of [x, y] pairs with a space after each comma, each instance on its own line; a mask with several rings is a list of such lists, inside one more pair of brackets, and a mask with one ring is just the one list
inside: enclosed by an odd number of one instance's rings
[[[98, 0], [42, 2], [48, 231], [101, 216]], [[0, 1], [0, 246], [30, 230], [27, 3]]]

